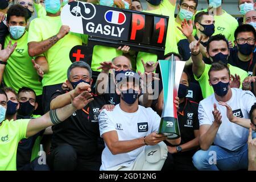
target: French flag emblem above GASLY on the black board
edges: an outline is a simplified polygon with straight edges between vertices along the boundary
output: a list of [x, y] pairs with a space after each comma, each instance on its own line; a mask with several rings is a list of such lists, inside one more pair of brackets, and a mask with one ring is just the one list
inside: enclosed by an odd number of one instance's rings
[[105, 20], [108, 23], [123, 24], [125, 23], [126, 16], [120, 11], [109, 10], [105, 13]]

